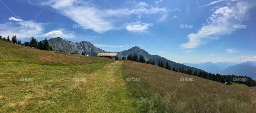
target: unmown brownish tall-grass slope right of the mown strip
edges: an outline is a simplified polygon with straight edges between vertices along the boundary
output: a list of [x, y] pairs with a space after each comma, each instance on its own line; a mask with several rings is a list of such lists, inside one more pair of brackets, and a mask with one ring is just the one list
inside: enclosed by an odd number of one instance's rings
[[[124, 79], [141, 79], [139, 82], [127, 81], [127, 85], [144, 112], [256, 112], [255, 87], [240, 89], [153, 65], [146, 66], [128, 60], [122, 65]], [[194, 81], [180, 81], [181, 77]]]

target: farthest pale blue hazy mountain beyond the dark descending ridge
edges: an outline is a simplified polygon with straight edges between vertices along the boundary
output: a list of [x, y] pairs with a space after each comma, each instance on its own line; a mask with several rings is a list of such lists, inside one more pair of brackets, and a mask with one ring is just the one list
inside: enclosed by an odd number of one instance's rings
[[201, 64], [187, 64], [187, 63], [182, 63], [182, 64], [191, 66], [194, 68], [202, 69], [209, 73], [211, 72], [211, 73], [217, 74], [217, 73], [222, 72], [222, 69], [218, 65], [216, 65], [212, 62], [205, 62], [205, 63], [201, 63]]

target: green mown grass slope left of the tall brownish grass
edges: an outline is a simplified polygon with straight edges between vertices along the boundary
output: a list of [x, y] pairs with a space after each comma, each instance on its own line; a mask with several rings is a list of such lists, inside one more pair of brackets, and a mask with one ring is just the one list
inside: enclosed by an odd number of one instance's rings
[[[0, 53], [0, 112], [137, 111], [118, 66], [121, 61], [36, 50], [2, 40]], [[21, 77], [33, 81], [20, 81]], [[73, 81], [74, 77], [87, 81]]]

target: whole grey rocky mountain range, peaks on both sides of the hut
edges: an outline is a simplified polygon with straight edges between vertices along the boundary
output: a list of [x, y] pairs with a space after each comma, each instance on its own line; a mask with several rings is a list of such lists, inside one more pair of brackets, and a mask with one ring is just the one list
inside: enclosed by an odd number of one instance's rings
[[[51, 45], [51, 47], [56, 51], [62, 50], [67, 53], [77, 52], [78, 54], [85, 52], [85, 55], [88, 55], [88, 56], [94, 56], [94, 55], [97, 55], [98, 53], [107, 53], [106, 51], [95, 47], [93, 44], [91, 44], [88, 41], [81, 41], [80, 43], [78, 43], [78, 42], [75, 43], [72, 41], [62, 39], [61, 37], [56, 37], [56, 38], [50, 39], [48, 41], [49, 41], [49, 44]], [[173, 67], [175, 67], [177, 69], [183, 67], [184, 69], [197, 70], [198, 72], [204, 71], [204, 70], [197, 69], [194, 67], [186, 66], [184, 64], [179, 64], [179, 63], [173, 62], [171, 60], [167, 60], [166, 58], [161, 57], [159, 55], [150, 55], [148, 52], [146, 52], [145, 50], [143, 50], [137, 46], [130, 48], [128, 50], [125, 50], [125, 51], [111, 52], [111, 53], [117, 53], [119, 58], [122, 58], [123, 56], [127, 57], [129, 54], [134, 55], [134, 53], [136, 53], [138, 56], [143, 55], [146, 61], [149, 60], [150, 58], [155, 59], [155, 65], [157, 65], [158, 60], [160, 60], [160, 61], [163, 61], [164, 64], [166, 64], [166, 62], [168, 62], [171, 69]]]

